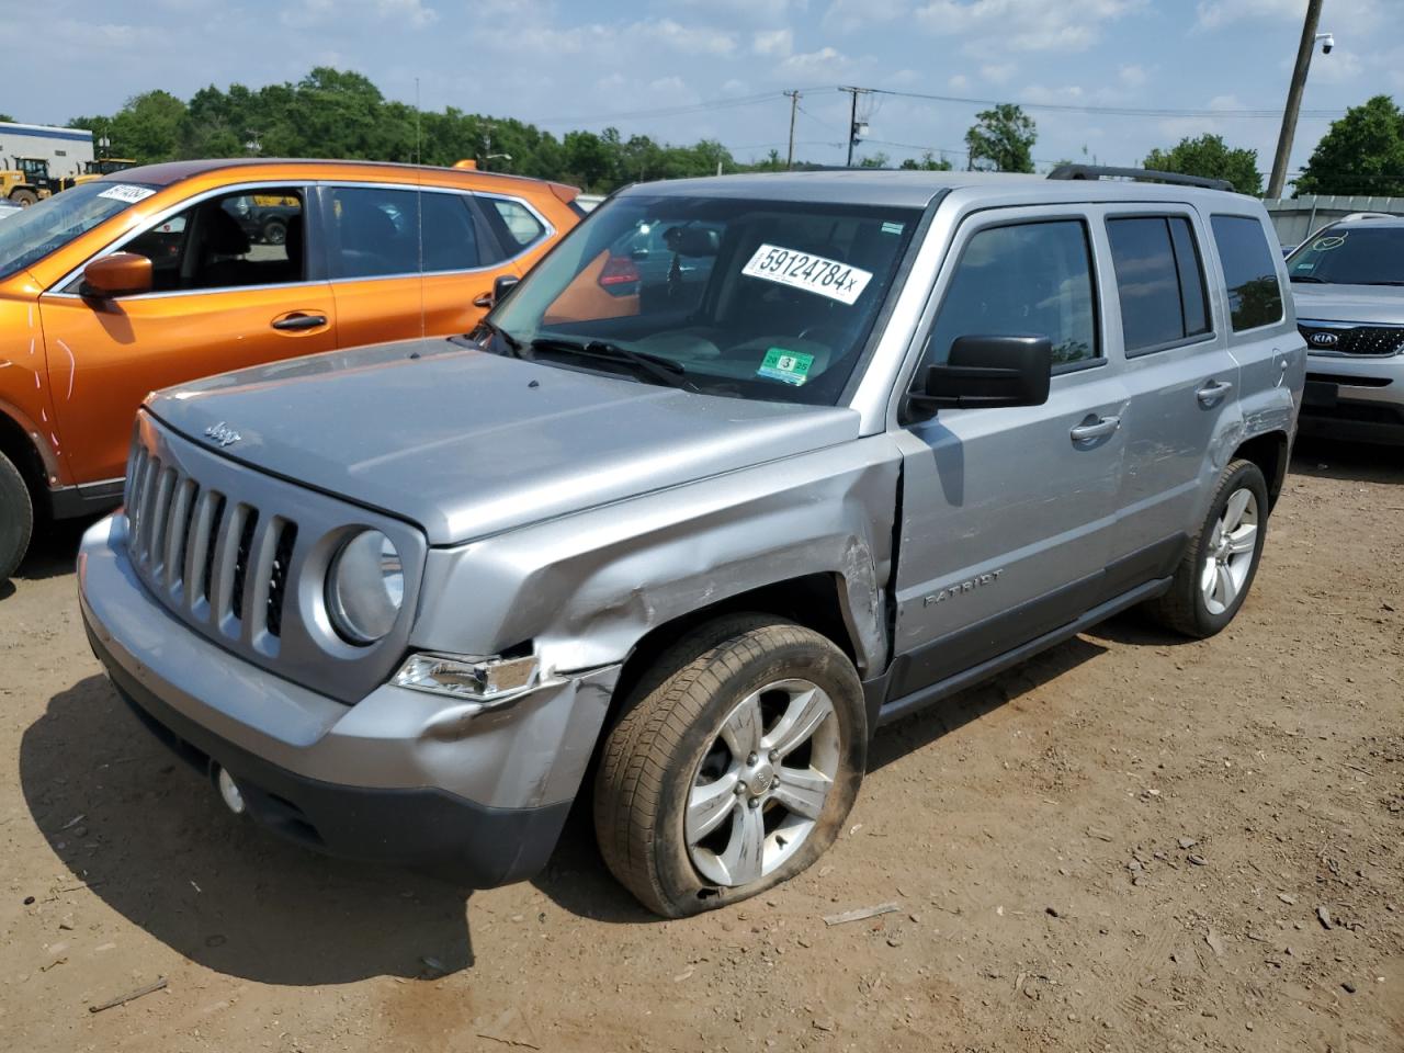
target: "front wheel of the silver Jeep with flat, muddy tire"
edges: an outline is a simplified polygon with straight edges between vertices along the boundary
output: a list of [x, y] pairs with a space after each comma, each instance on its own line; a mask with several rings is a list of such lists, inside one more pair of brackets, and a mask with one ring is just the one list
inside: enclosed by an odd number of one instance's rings
[[862, 685], [831, 640], [765, 615], [717, 619], [657, 660], [609, 731], [600, 851], [664, 917], [744, 900], [834, 842], [866, 754]]

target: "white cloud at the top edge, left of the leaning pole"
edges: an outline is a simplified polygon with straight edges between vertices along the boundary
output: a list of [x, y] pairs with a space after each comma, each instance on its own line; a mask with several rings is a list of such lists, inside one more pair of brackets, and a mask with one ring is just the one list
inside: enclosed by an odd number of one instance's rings
[[1087, 51], [1102, 25], [1146, 7], [1146, 0], [928, 0], [917, 21], [938, 37], [969, 37], [972, 53]]

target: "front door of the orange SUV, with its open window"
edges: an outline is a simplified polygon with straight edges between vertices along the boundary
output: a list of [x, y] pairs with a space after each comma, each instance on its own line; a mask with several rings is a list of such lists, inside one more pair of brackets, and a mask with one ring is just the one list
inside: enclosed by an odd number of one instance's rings
[[[253, 195], [282, 199], [279, 244]], [[122, 476], [149, 392], [336, 347], [331, 289], [312, 281], [300, 187], [230, 191], [157, 218], [115, 250], [152, 260], [150, 292], [91, 300], [81, 275], [39, 298], [60, 453], [76, 482]]]

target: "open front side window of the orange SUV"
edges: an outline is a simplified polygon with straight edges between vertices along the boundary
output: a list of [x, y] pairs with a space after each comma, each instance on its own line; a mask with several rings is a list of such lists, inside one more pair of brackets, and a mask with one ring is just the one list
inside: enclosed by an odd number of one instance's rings
[[303, 198], [298, 188], [206, 198], [147, 227], [122, 251], [152, 261], [152, 289], [229, 289], [303, 281]]

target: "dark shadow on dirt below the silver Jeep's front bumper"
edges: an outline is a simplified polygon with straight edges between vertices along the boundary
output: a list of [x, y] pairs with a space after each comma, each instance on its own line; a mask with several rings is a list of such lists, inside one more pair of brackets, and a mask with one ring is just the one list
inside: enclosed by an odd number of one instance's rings
[[326, 859], [234, 819], [102, 677], [55, 695], [25, 730], [20, 781], [69, 887], [86, 883], [202, 966], [317, 986], [473, 965], [466, 890]]

